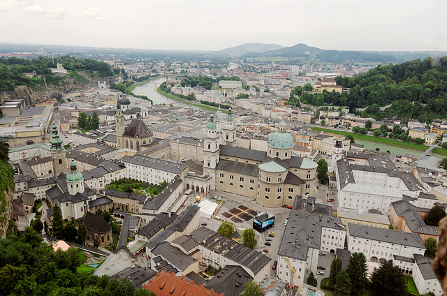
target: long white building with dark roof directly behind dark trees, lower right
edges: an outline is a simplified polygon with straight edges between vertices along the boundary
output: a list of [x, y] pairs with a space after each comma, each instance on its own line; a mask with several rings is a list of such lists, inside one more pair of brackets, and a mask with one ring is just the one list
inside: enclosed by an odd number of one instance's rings
[[393, 256], [412, 257], [425, 253], [425, 244], [416, 233], [348, 223], [348, 250], [362, 252], [367, 261], [383, 262]]

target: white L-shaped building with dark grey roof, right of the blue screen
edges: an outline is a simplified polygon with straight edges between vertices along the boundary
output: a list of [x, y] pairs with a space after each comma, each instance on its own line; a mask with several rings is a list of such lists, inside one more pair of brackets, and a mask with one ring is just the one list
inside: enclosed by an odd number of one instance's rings
[[295, 283], [288, 260], [298, 280], [305, 280], [306, 269], [316, 274], [318, 252], [335, 253], [344, 248], [346, 229], [338, 218], [292, 211], [278, 251], [277, 276], [281, 281]]

